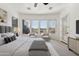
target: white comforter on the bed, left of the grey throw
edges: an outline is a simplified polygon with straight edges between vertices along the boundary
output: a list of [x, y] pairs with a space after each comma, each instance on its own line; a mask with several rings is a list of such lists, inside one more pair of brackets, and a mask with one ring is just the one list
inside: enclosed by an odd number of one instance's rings
[[26, 56], [28, 55], [28, 49], [34, 40], [42, 39], [20, 36], [17, 40], [0, 46], [0, 56]]

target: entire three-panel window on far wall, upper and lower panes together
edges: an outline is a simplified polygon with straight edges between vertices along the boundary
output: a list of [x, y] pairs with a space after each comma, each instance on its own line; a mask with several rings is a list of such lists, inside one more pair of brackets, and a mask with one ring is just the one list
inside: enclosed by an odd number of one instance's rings
[[[31, 27], [33, 33], [55, 33], [56, 32], [56, 20], [32, 20]], [[40, 29], [40, 31], [39, 31]]]

